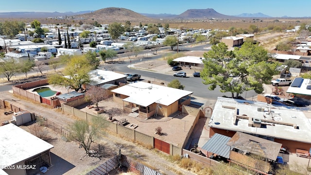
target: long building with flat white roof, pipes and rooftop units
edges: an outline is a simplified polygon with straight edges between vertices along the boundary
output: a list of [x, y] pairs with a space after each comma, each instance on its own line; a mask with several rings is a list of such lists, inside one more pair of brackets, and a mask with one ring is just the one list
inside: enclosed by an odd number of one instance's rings
[[309, 107], [273, 105], [218, 97], [208, 123], [209, 137], [215, 133], [233, 137], [242, 132], [281, 143], [290, 152], [311, 148]]

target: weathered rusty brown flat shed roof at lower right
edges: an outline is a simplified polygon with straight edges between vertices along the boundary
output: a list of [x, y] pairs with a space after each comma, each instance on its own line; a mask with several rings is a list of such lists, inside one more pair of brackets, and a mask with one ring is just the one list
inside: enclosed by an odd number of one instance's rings
[[276, 160], [282, 146], [281, 143], [262, 139], [242, 132], [236, 132], [227, 142], [227, 145], [270, 160]]

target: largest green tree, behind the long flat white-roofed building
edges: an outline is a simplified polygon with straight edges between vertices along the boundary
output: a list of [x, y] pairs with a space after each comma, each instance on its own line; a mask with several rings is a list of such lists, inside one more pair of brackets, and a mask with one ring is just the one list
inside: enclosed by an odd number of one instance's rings
[[204, 69], [201, 77], [209, 90], [217, 86], [221, 92], [231, 92], [236, 98], [244, 91], [254, 89], [256, 93], [263, 91], [262, 84], [269, 83], [276, 74], [275, 63], [267, 63], [269, 58], [258, 44], [245, 42], [234, 52], [227, 51], [225, 43], [213, 45], [211, 51], [204, 53]]

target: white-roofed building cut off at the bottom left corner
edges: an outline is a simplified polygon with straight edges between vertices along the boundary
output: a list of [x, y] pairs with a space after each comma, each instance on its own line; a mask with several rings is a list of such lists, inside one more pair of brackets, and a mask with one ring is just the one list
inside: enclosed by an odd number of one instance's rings
[[33, 175], [52, 165], [52, 144], [12, 123], [0, 126], [0, 133], [0, 175]]

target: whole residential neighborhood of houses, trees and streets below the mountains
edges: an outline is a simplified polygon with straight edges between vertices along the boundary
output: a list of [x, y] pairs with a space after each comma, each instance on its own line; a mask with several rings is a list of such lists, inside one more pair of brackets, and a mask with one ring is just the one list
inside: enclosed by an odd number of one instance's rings
[[0, 175], [310, 174], [310, 24], [161, 20], [0, 22]]

